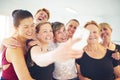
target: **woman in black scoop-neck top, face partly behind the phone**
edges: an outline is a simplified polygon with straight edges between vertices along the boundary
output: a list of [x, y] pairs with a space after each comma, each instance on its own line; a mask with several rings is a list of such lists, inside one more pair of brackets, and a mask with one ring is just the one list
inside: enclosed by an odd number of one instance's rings
[[90, 35], [82, 58], [76, 60], [80, 65], [79, 78], [81, 80], [114, 80], [114, 74], [116, 74], [118, 77], [115, 80], [119, 80], [120, 67], [118, 61], [111, 57], [113, 51], [105, 49], [98, 42], [98, 25], [91, 21], [84, 27], [90, 31]]

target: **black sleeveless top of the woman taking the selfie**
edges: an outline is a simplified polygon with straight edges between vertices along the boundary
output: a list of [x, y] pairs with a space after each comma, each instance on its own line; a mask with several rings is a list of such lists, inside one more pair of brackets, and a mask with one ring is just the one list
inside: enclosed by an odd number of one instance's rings
[[[32, 46], [33, 47], [33, 46]], [[35, 64], [30, 55], [31, 48], [28, 49], [27, 56], [26, 56], [26, 63], [28, 66], [28, 70], [35, 80], [51, 80], [53, 76], [54, 64], [50, 64], [46, 67], [40, 67]]]

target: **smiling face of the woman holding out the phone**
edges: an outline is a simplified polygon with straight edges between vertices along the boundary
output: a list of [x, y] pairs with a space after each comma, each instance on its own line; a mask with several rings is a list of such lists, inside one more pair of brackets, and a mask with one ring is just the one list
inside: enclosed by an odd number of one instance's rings
[[53, 42], [53, 30], [49, 23], [40, 26], [39, 33], [37, 33], [38, 39], [43, 43]]

